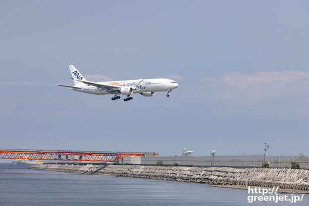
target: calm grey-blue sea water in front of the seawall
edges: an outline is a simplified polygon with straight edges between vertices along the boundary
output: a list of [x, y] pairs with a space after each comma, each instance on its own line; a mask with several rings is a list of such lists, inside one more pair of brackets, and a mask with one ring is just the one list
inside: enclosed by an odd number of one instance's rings
[[248, 190], [205, 184], [52, 172], [0, 164], [0, 206], [308, 206], [248, 203]]

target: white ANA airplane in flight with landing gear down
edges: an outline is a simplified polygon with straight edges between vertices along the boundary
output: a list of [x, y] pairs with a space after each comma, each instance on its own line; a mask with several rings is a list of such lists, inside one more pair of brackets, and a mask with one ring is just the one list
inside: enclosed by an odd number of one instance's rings
[[69, 65], [72, 75], [71, 80], [74, 81], [74, 86], [61, 85], [69, 87], [71, 90], [80, 91], [89, 94], [114, 95], [111, 100], [120, 99], [120, 95], [127, 95], [125, 102], [133, 99], [131, 94], [142, 94], [143, 96], [154, 96], [154, 92], [167, 91], [166, 96], [169, 97], [169, 92], [178, 87], [178, 83], [168, 79], [148, 79], [148, 80], [126, 80], [113, 82], [90, 82], [87, 81], [83, 75], [74, 67]]

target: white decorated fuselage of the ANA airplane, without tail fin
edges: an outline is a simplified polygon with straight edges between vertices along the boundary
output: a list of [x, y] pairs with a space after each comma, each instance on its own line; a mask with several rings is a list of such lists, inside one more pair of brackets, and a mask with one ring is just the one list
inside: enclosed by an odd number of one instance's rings
[[[136, 87], [133, 90], [133, 94], [143, 92], [158, 92], [158, 91], [170, 91], [178, 87], [178, 83], [168, 79], [148, 79], [148, 80], [125, 80], [125, 81], [113, 81], [113, 82], [96, 82], [100, 84], [116, 85], [123, 87]], [[80, 91], [89, 94], [105, 95], [110, 94], [105, 89], [97, 86], [87, 84], [79, 84], [81, 88], [70, 88], [74, 91]]]

